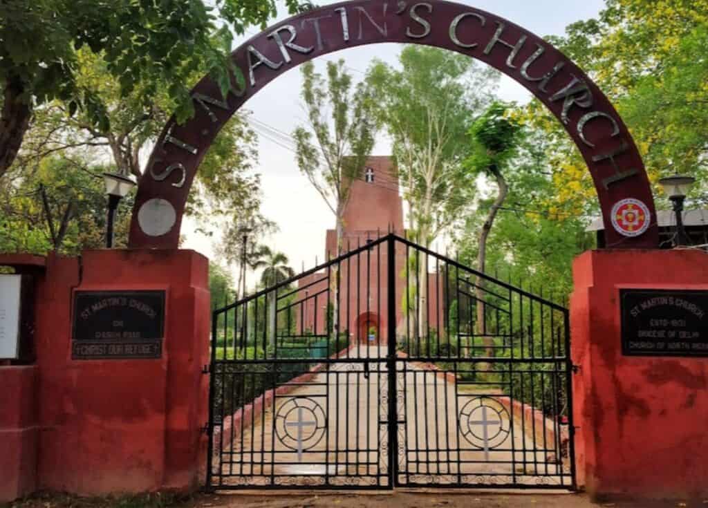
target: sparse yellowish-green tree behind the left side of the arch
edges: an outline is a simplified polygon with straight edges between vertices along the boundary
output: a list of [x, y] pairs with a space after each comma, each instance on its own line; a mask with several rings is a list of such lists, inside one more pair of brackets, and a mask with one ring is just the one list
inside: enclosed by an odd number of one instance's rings
[[[101, 103], [109, 122], [93, 125], [85, 111], [69, 116], [57, 100], [36, 108], [13, 171], [30, 174], [46, 156], [81, 154], [96, 161], [110, 157], [119, 173], [139, 178], [144, 172], [140, 155], [156, 139], [176, 103], [167, 93], [159, 93], [147, 106], [137, 90], [121, 96], [107, 64], [88, 50], [76, 52], [74, 76]], [[210, 229], [227, 212], [238, 213], [258, 191], [260, 178], [251, 173], [256, 160], [256, 134], [245, 115], [235, 115], [210, 146], [190, 192], [187, 212], [202, 229]]]

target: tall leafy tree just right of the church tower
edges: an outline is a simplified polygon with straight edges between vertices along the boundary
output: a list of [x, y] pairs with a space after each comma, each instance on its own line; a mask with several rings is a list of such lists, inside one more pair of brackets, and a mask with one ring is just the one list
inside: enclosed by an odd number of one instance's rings
[[[474, 111], [488, 103], [497, 74], [469, 57], [430, 47], [405, 47], [399, 61], [400, 69], [375, 62], [367, 81], [393, 139], [411, 233], [429, 247], [472, 204], [474, 180], [462, 164], [466, 130]], [[419, 335], [427, 336], [428, 260], [421, 256], [409, 267], [417, 270], [411, 288], [417, 298], [406, 307], [417, 313]]]

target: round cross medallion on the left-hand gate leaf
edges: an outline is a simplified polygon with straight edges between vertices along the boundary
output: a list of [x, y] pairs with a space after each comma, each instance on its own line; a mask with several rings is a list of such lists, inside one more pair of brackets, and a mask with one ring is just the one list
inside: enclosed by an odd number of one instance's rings
[[326, 415], [321, 405], [309, 397], [293, 397], [278, 408], [275, 434], [298, 457], [314, 448], [326, 433]]

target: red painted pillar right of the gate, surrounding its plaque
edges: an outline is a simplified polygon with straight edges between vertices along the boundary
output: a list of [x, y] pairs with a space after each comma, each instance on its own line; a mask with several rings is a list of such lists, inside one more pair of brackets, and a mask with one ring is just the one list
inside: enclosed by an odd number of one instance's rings
[[[576, 464], [595, 498], [708, 497], [708, 358], [622, 354], [620, 289], [708, 289], [696, 250], [596, 250], [573, 265]], [[708, 325], [708, 323], [707, 323]]]

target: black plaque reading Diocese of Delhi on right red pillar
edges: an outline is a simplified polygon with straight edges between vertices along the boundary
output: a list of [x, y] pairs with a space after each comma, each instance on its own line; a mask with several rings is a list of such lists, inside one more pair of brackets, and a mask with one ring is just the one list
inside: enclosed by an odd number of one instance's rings
[[622, 354], [708, 357], [708, 291], [621, 289]]

